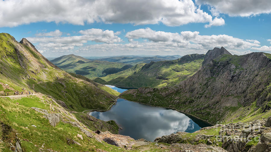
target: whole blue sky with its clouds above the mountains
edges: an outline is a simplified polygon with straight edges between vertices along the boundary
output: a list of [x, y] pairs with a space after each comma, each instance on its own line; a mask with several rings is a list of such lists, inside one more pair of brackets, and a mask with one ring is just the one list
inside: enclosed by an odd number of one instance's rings
[[270, 53], [270, 12], [267, 0], [6, 0], [0, 31], [27, 38], [45, 57], [186, 55], [222, 46], [242, 55]]

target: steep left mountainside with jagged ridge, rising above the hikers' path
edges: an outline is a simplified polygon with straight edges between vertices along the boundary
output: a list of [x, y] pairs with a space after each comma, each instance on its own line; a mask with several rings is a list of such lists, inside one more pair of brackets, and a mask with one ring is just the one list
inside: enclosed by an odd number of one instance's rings
[[[38, 91], [61, 100], [73, 111], [108, 108], [116, 96], [110, 88], [75, 78], [48, 61], [26, 39], [18, 43], [7, 33], [0, 34], [0, 93]], [[6, 85], [7, 84], [7, 85]], [[115, 94], [117, 95], [117, 94]]]

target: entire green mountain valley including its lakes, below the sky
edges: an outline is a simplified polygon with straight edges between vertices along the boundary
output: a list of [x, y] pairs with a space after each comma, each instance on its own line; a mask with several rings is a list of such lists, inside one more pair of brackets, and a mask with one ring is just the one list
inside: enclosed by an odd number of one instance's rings
[[[25, 38], [0, 38], [3, 151], [271, 148], [268, 53], [237, 56], [214, 48], [92, 80], [61, 70], [60, 62], [52, 64]], [[74, 55], [61, 59], [72, 66], [92, 63]], [[17, 90], [23, 95], [13, 95]]]

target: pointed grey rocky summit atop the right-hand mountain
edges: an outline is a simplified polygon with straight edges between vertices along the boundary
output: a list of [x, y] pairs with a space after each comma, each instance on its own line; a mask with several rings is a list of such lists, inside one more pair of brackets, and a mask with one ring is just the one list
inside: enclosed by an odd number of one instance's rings
[[229, 53], [228, 50], [226, 50], [224, 47], [218, 48], [215, 47], [213, 48], [213, 50], [208, 50], [208, 52], [205, 54], [205, 58], [204, 61], [202, 62], [202, 66], [207, 65], [208, 63], [210, 63], [213, 59], [215, 59], [216, 57], [223, 55], [223, 54], [229, 54], [232, 55], [231, 53]]

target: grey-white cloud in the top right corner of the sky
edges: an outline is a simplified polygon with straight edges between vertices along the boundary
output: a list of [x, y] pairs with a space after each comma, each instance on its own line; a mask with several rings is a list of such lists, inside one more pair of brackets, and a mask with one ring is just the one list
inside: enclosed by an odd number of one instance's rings
[[195, 0], [198, 5], [207, 4], [212, 6], [210, 11], [224, 13], [229, 16], [249, 17], [252, 15], [270, 13], [270, 0]]

